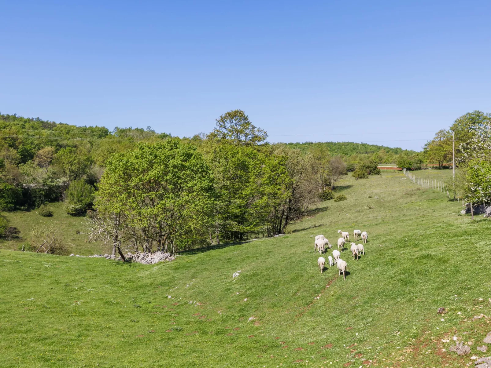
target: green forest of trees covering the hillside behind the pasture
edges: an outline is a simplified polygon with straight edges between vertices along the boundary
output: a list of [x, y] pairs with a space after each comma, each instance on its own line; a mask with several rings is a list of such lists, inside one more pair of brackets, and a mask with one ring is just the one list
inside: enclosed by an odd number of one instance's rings
[[[475, 166], [472, 142], [489, 126], [480, 111], [456, 120], [461, 165]], [[352, 142], [269, 144], [242, 110], [218, 117], [209, 134], [182, 138], [151, 127], [109, 131], [0, 114], [0, 210], [37, 208], [49, 216], [46, 204], [64, 201], [67, 213], [88, 216], [91, 237], [112, 244], [113, 253], [274, 236], [314, 202], [334, 198], [336, 182], [350, 171], [365, 179], [380, 174], [380, 163], [442, 166], [449, 134], [437, 132], [414, 152]], [[476, 190], [461, 191], [482, 199]], [[0, 235], [7, 229], [0, 217]], [[49, 242], [50, 229], [41, 230], [40, 241]]]

